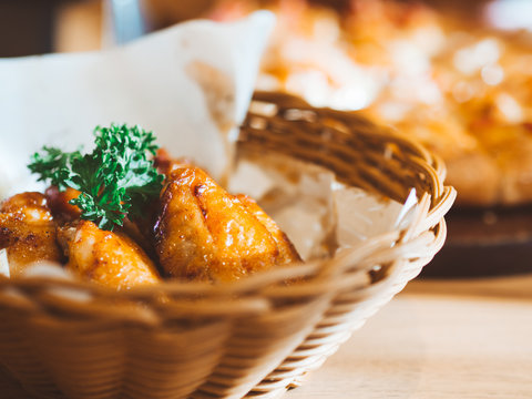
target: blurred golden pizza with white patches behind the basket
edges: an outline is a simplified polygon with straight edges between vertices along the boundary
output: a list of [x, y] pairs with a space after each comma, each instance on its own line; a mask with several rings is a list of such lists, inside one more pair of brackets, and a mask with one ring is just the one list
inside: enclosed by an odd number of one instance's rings
[[[532, 202], [532, 40], [418, 2], [352, 0], [341, 12], [269, 1], [278, 16], [258, 88], [362, 111], [448, 166], [458, 204]], [[232, 19], [253, 2], [222, 1]]]

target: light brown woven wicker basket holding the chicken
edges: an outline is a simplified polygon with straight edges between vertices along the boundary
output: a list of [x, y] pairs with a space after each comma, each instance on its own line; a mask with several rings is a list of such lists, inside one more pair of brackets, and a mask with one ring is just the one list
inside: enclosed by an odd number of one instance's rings
[[2, 398], [278, 397], [441, 248], [454, 191], [442, 185], [438, 158], [355, 113], [279, 93], [256, 93], [256, 102], [273, 112], [249, 112], [239, 152], [289, 154], [398, 201], [415, 187], [413, 223], [334, 259], [226, 286], [166, 282], [113, 293], [61, 278], [2, 279]]

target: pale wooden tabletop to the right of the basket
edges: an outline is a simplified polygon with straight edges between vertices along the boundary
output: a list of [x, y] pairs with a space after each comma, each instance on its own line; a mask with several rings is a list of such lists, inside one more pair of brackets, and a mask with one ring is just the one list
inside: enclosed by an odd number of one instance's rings
[[532, 398], [532, 275], [415, 280], [285, 398]]

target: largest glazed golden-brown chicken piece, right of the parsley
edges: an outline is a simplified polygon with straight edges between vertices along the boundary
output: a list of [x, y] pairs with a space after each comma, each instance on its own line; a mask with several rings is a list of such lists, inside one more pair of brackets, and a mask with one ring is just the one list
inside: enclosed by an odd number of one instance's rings
[[155, 248], [172, 277], [231, 282], [299, 260], [273, 226], [258, 205], [243, 203], [198, 167], [187, 166], [172, 171], [163, 188]]

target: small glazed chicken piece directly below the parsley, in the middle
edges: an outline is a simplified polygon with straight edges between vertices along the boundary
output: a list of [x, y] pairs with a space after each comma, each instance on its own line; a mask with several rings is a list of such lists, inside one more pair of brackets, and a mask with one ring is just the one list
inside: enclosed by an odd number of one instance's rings
[[161, 280], [153, 262], [130, 237], [80, 221], [59, 228], [58, 238], [69, 257], [66, 267], [101, 285], [121, 289]]

